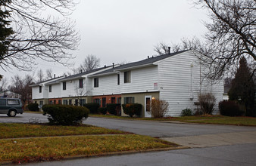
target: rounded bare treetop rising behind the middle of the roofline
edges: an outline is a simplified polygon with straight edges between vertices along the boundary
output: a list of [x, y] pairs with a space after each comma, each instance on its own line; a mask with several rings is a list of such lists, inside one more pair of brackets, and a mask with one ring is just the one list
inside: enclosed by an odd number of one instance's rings
[[92, 69], [99, 67], [100, 59], [97, 58], [95, 55], [87, 55], [86, 58], [83, 60], [83, 63], [80, 64], [78, 68], [72, 69], [73, 73], [77, 74], [82, 72], [88, 72]]

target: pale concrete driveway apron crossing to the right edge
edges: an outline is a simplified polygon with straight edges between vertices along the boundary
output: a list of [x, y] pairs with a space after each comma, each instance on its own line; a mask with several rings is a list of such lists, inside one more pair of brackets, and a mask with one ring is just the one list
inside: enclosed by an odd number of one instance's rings
[[167, 140], [169, 142], [191, 148], [226, 146], [242, 143], [256, 143], [256, 131], [224, 134], [202, 134], [188, 137], [163, 137], [161, 140]]

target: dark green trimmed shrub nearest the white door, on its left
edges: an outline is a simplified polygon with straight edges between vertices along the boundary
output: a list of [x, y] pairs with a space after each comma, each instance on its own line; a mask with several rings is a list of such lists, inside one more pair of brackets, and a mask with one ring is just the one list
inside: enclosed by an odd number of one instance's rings
[[122, 107], [123, 112], [126, 115], [130, 115], [130, 117], [133, 117], [133, 115], [142, 115], [142, 105], [140, 103], [122, 104]]

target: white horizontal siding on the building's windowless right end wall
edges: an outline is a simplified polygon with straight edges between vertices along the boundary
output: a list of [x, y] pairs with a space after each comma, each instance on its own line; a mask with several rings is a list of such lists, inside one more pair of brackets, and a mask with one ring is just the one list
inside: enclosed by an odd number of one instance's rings
[[[202, 73], [200, 76], [200, 66], [198, 58], [190, 51], [169, 57], [158, 63], [158, 88], [161, 100], [166, 100], [169, 103], [168, 115], [179, 116], [180, 112], [186, 108], [195, 111], [195, 102], [198, 102], [200, 89], [201, 92], [212, 92], [215, 95], [216, 106], [220, 102], [223, 84], [220, 82], [219, 85], [212, 86], [211, 81], [204, 78]], [[204, 66], [201, 66], [201, 72], [204, 71], [203, 68]]]

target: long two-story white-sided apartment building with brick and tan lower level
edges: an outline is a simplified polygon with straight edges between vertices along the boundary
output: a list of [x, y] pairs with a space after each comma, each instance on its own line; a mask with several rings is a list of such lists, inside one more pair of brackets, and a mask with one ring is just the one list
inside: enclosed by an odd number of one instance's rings
[[[167, 115], [179, 116], [183, 109], [198, 109], [200, 93], [211, 92], [216, 103], [222, 100], [223, 81], [213, 83], [207, 79], [205, 73], [209, 69], [200, 56], [196, 51], [180, 51], [46, 81], [43, 85], [48, 95], [43, 99], [48, 103], [72, 105], [141, 103], [142, 117], [151, 117], [147, 105], [160, 99], [169, 103]], [[33, 85], [33, 91], [38, 92], [39, 85]], [[39, 95], [33, 94], [33, 100], [37, 101]], [[125, 115], [123, 111], [121, 115]]]

